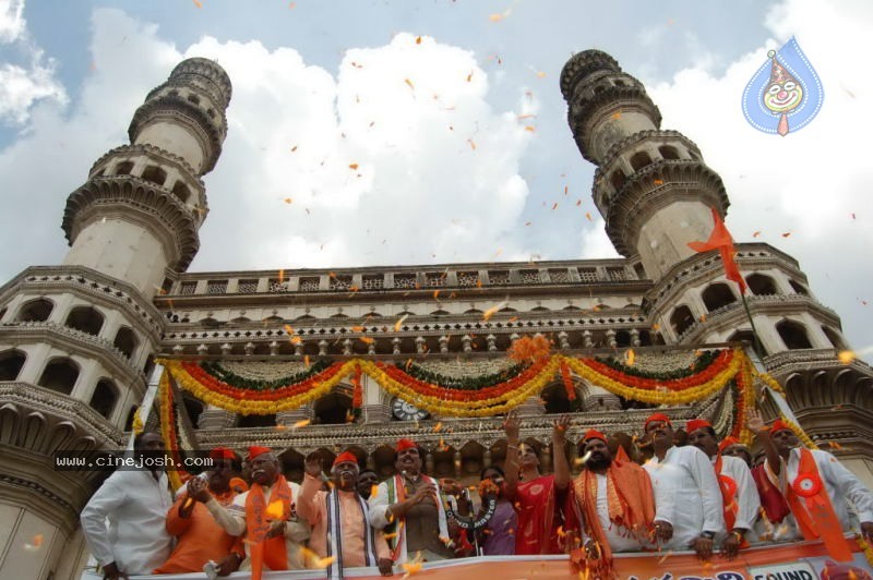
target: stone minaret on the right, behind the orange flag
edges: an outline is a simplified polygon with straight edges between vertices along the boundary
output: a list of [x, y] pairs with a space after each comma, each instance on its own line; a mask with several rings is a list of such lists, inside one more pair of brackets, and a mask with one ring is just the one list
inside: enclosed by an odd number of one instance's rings
[[[643, 307], [656, 342], [751, 345], [740, 291], [725, 279], [718, 254], [687, 246], [709, 237], [711, 208], [723, 218], [729, 205], [697, 146], [660, 129], [643, 85], [605, 52], [572, 57], [561, 92], [576, 145], [597, 166], [594, 201], [607, 233], [654, 281]], [[851, 447], [845, 459], [873, 482], [871, 415], [860, 411], [869, 407], [873, 371], [860, 361], [839, 361], [838, 351], [848, 348], [839, 316], [815, 300], [796, 259], [765, 243], [737, 244], [736, 259], [749, 286], [762, 366], [786, 385], [804, 427]]]

